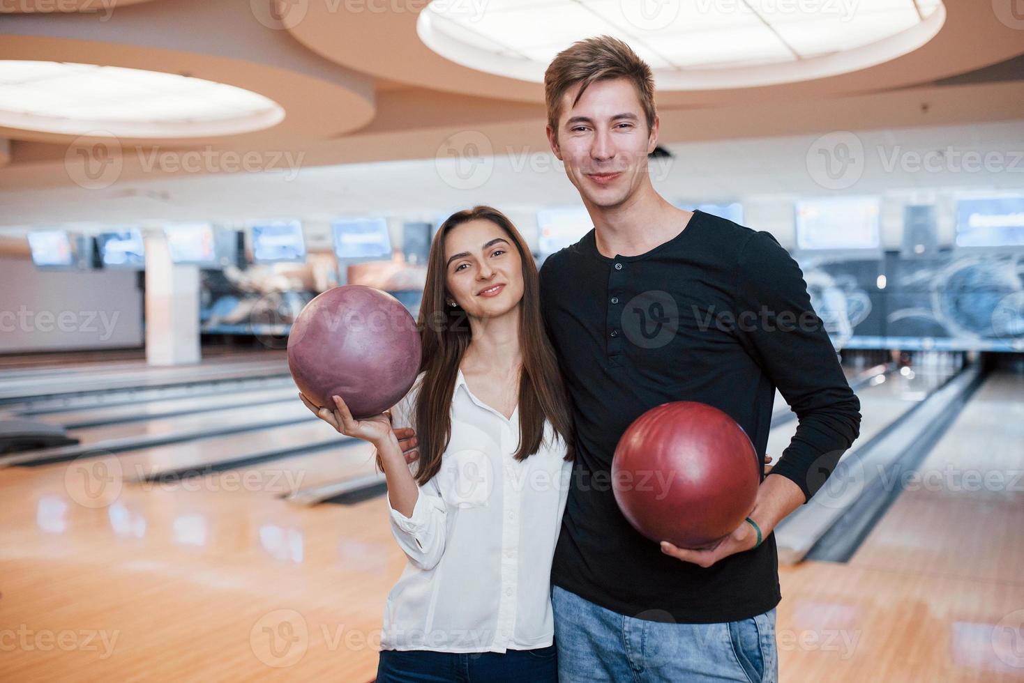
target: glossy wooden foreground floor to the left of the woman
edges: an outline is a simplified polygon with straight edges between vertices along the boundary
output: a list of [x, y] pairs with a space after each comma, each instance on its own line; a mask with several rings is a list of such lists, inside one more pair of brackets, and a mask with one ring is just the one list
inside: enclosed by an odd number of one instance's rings
[[[0, 472], [0, 678], [370, 681], [404, 566], [383, 498], [351, 507]], [[71, 639], [59, 648], [47, 638]], [[276, 640], [271, 640], [271, 636]]]

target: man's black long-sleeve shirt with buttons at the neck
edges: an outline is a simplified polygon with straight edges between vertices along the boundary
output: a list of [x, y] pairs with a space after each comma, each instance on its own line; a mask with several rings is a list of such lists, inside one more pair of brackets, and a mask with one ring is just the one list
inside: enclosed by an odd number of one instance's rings
[[857, 438], [860, 404], [800, 267], [771, 234], [697, 211], [639, 256], [602, 256], [591, 230], [547, 259], [541, 292], [577, 434], [552, 582], [654, 621], [729, 622], [771, 609], [781, 599], [773, 534], [708, 568], [680, 561], [626, 520], [610, 469], [630, 423], [669, 401], [725, 411], [761, 457], [778, 388], [799, 426], [772, 471], [814, 494]]

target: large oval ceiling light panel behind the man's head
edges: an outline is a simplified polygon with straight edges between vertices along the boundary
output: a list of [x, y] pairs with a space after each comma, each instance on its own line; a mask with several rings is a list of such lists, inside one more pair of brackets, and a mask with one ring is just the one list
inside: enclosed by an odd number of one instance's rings
[[912, 52], [942, 28], [941, 0], [433, 0], [417, 33], [463, 66], [542, 83], [574, 41], [626, 41], [666, 90], [826, 78]]

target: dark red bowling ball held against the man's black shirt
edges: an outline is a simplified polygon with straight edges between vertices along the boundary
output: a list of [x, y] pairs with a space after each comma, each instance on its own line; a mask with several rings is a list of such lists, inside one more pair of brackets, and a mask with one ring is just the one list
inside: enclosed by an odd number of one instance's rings
[[615, 501], [654, 542], [700, 548], [730, 534], [754, 508], [760, 458], [736, 422], [717, 408], [665, 403], [640, 415], [611, 462]]

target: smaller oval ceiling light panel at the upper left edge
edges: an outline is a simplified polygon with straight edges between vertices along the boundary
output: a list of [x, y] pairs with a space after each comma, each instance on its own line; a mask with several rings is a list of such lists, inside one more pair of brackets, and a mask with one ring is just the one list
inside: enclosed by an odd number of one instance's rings
[[285, 109], [243, 88], [120, 66], [0, 60], [0, 126], [65, 135], [195, 138], [274, 126]]

